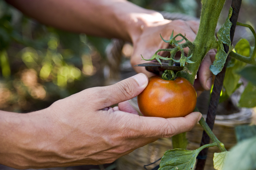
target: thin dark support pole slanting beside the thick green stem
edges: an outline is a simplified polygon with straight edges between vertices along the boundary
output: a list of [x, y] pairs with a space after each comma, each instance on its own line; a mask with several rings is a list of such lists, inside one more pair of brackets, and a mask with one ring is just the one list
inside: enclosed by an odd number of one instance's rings
[[[233, 13], [230, 18], [230, 21], [232, 22], [232, 26], [230, 29], [231, 45], [233, 42], [233, 37], [234, 37], [235, 29], [236, 29], [236, 23], [237, 23], [239, 10], [241, 7], [241, 2], [242, 2], [242, 0], [232, 0], [232, 4], [231, 4], [231, 7], [233, 8]], [[225, 51], [226, 52], [229, 51], [229, 47], [226, 44], [223, 44], [223, 45], [224, 45]], [[211, 130], [213, 129], [214, 122], [215, 122], [217, 107], [218, 107], [218, 103], [219, 103], [219, 96], [221, 94], [223, 80], [225, 77], [225, 72], [226, 72], [226, 67], [227, 67], [228, 61], [229, 61], [229, 56], [227, 56], [226, 63], [224, 65], [222, 71], [216, 75], [215, 80], [214, 80], [214, 86], [213, 86], [210, 104], [208, 107], [207, 118], [206, 118], [206, 123], [209, 125]], [[210, 137], [206, 134], [205, 131], [203, 131], [203, 137], [202, 137], [202, 141], [201, 141], [200, 145], [203, 146], [208, 143], [210, 143]], [[206, 158], [207, 158], [207, 153], [208, 153], [208, 148], [203, 149], [197, 156], [196, 170], [204, 169], [204, 166], [206, 163]]]

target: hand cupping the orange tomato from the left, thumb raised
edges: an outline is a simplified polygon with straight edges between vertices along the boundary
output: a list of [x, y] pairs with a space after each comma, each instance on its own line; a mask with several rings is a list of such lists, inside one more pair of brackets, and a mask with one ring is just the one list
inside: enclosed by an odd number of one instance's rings
[[[26, 121], [33, 122], [27, 131], [33, 133], [26, 135], [26, 142], [22, 142], [20, 134], [22, 147], [10, 149], [20, 153], [12, 157], [19, 166], [7, 166], [42, 168], [110, 163], [158, 138], [189, 131], [200, 120], [199, 112], [169, 119], [137, 115], [124, 101], [139, 95], [147, 83], [147, 76], [140, 73], [112, 86], [89, 88], [58, 100], [45, 110], [25, 114], [30, 115]], [[110, 107], [117, 103], [118, 107]]]

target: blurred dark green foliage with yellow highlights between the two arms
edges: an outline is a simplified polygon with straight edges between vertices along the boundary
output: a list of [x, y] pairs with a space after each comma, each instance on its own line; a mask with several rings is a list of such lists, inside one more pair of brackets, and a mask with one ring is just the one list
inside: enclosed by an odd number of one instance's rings
[[46, 27], [0, 0], [0, 109], [38, 110], [102, 86], [109, 41]]

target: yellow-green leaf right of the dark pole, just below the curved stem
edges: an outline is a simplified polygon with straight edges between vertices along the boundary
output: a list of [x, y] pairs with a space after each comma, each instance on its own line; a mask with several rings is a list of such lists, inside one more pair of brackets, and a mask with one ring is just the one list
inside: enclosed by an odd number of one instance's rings
[[238, 72], [241, 71], [245, 65], [246, 63], [235, 59], [233, 61], [233, 67], [226, 69], [223, 86], [227, 92], [227, 95], [230, 96], [239, 87], [238, 81], [240, 80], [241, 75], [238, 74]]

